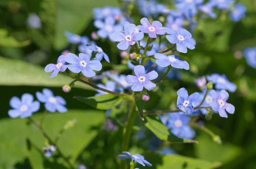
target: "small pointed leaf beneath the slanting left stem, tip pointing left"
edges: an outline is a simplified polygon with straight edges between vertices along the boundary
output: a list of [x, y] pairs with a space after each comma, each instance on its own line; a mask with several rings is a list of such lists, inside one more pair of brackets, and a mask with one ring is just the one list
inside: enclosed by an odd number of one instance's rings
[[112, 94], [100, 95], [95, 97], [75, 96], [74, 98], [100, 110], [111, 109], [113, 106], [118, 105], [122, 101], [121, 97]]

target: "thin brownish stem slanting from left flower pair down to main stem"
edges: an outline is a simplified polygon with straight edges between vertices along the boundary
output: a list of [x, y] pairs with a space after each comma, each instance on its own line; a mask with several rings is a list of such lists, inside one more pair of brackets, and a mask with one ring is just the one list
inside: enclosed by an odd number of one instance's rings
[[121, 93], [117, 93], [117, 92], [112, 92], [112, 91], [110, 91], [110, 90], [103, 89], [103, 88], [101, 88], [101, 87], [99, 87], [99, 86], [96, 86], [96, 85], [94, 85], [94, 84], [92, 84], [92, 83], [89, 83], [89, 82], [87, 82], [87, 81], [84, 81], [84, 80], [82, 80], [82, 79], [80, 79], [80, 78], [78, 78], [78, 77], [73, 77], [73, 76], [71, 76], [70, 74], [68, 74], [67, 72], [63, 72], [63, 73], [66, 74], [68, 77], [71, 77], [72, 79], [75, 79], [75, 80], [77, 80], [77, 81], [79, 81], [79, 82], [85, 83], [85, 84], [87, 84], [87, 85], [93, 87], [94, 89], [98, 89], [98, 90], [101, 90], [101, 91], [103, 91], [103, 92], [107, 92], [107, 93], [110, 93], [110, 94], [112, 94], [112, 95], [116, 95], [116, 96], [118, 96], [118, 97], [123, 97], [123, 98], [125, 98], [125, 99], [127, 99], [127, 100], [131, 100], [131, 101], [134, 100], [133, 97], [131, 97], [130, 95], [121, 94]]

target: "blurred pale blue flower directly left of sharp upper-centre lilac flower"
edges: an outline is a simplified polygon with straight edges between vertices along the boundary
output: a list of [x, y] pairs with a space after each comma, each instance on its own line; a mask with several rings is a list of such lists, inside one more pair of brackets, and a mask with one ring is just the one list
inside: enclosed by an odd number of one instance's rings
[[105, 22], [102, 22], [102, 20], [95, 20], [94, 21], [94, 26], [96, 28], [98, 28], [99, 30], [97, 31], [97, 34], [99, 37], [105, 39], [105, 38], [109, 38], [111, 39], [111, 34], [113, 34], [113, 32], [121, 32], [122, 31], [122, 25], [115, 24], [115, 20], [113, 17], [106, 17], [105, 18]]

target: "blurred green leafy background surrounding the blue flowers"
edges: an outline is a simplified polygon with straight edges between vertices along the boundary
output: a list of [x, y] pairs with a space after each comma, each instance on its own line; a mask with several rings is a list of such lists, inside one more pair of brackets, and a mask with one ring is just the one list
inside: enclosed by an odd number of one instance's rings
[[[207, 128], [219, 135], [223, 143], [219, 145], [209, 135], [197, 130], [195, 140], [198, 144], [171, 144], [170, 147], [182, 156], [151, 156], [148, 159], [153, 164], [151, 168], [210, 169], [219, 166], [218, 169], [256, 169], [256, 70], [247, 66], [244, 58], [234, 57], [234, 52], [256, 46], [256, 2], [240, 2], [247, 7], [247, 13], [238, 23], [231, 22], [226, 13], [220, 13], [216, 20], [198, 20], [198, 28], [193, 34], [197, 41], [195, 50], [180, 55], [189, 63], [190, 70], [183, 71], [182, 80], [164, 80], [161, 91], [150, 93], [151, 100], [146, 104], [148, 110], [173, 108], [176, 91], [180, 87], [185, 87], [189, 93], [198, 92], [193, 82], [195, 78], [212, 73], [226, 74], [238, 86], [235, 93], [230, 93], [229, 99], [229, 103], [236, 107], [235, 114], [227, 119], [214, 115], [210, 121], [201, 117]], [[78, 83], [72, 92], [66, 94], [61, 87], [71, 80], [62, 74], [50, 79], [44, 72], [44, 66], [55, 63], [61, 52], [71, 47], [64, 31], [90, 37], [90, 33], [96, 31], [92, 9], [106, 5], [118, 6], [118, 2], [0, 0], [0, 169], [68, 168], [57, 155], [44, 157], [41, 148], [45, 146], [45, 139], [35, 126], [29, 125], [26, 119], [11, 119], [7, 114], [12, 96], [20, 97], [23, 93], [35, 96], [35, 92], [44, 87], [64, 97], [69, 109], [64, 114], [47, 115], [44, 129], [50, 137], [57, 137], [68, 120], [76, 120], [74, 127], [67, 129], [58, 142], [64, 155], [72, 163], [84, 163], [89, 169], [117, 168], [122, 127], [119, 126], [116, 132], [106, 132], [105, 112], [73, 99], [76, 95], [87, 97], [96, 92]], [[41, 29], [27, 27], [26, 19], [30, 13], [38, 14]], [[138, 12], [134, 11], [134, 14]], [[134, 17], [136, 24], [140, 18], [142, 16]], [[118, 63], [119, 53], [110, 50], [111, 44], [100, 40], [96, 42], [111, 55], [112, 60], [116, 58], [114, 63]], [[105, 65], [104, 70], [113, 66]], [[121, 110], [116, 111], [122, 113]], [[32, 117], [40, 120], [40, 112]], [[140, 119], [136, 125], [142, 125]], [[131, 152], [142, 155], [149, 151], [134, 137], [130, 147]]]

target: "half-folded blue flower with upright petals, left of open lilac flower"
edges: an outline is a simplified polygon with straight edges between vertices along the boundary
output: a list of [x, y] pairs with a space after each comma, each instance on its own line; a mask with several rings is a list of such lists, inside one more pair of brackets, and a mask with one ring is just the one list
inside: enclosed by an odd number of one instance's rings
[[198, 92], [188, 95], [185, 88], [181, 88], [177, 91], [177, 108], [179, 108], [185, 114], [189, 114], [195, 107], [195, 101], [200, 97]]

